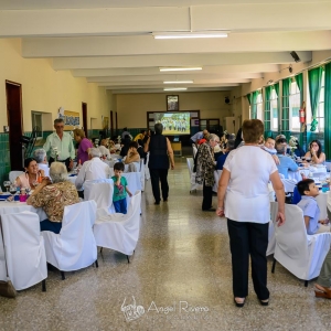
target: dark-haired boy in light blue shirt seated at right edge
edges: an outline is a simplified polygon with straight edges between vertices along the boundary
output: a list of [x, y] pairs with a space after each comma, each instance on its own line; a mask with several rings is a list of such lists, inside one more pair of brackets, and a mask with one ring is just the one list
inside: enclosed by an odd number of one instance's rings
[[312, 179], [306, 179], [298, 184], [298, 191], [301, 194], [301, 201], [297, 204], [303, 212], [307, 234], [313, 235], [322, 232], [330, 232], [327, 221], [319, 221], [320, 209], [316, 201], [316, 196], [320, 194], [319, 188]]

